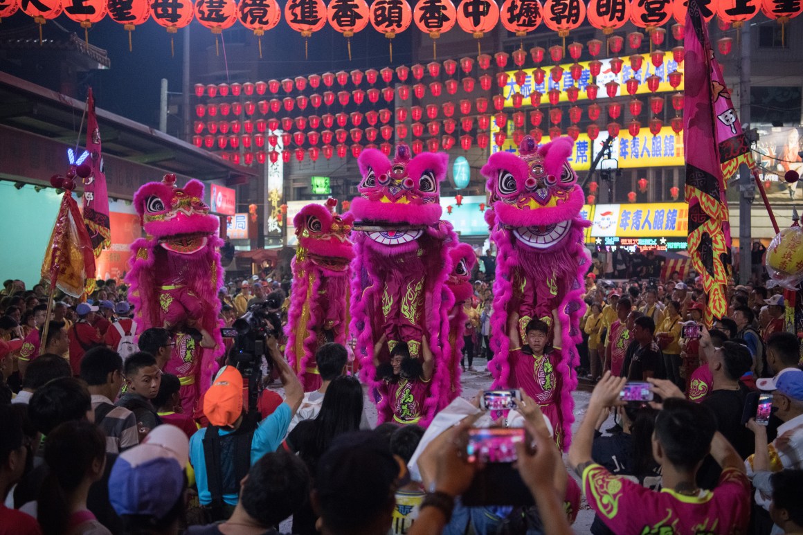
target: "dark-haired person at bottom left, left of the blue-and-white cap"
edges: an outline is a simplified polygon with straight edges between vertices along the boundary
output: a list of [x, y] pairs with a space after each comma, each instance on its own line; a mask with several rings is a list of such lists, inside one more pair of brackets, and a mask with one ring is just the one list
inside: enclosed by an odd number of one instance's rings
[[50, 473], [36, 500], [44, 535], [111, 535], [87, 508], [93, 483], [106, 465], [106, 436], [84, 421], [65, 422], [47, 435], [44, 452]]

